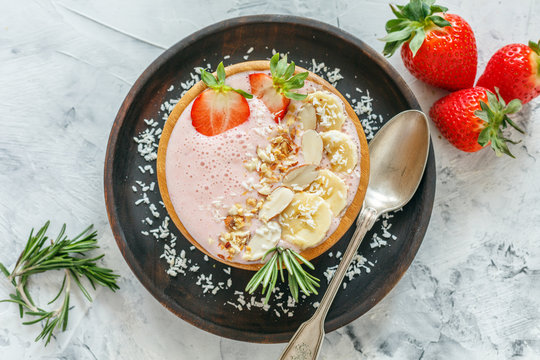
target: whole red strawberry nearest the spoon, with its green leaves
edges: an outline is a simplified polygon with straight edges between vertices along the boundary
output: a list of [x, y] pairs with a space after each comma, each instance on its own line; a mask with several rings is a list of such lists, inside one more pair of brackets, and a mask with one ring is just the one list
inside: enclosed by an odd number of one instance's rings
[[507, 142], [515, 142], [505, 138], [501, 128], [510, 125], [523, 133], [507, 115], [520, 109], [519, 100], [512, 100], [507, 105], [498, 93], [495, 95], [477, 86], [437, 100], [429, 116], [443, 136], [460, 150], [475, 152], [491, 144], [497, 156], [514, 157]]

